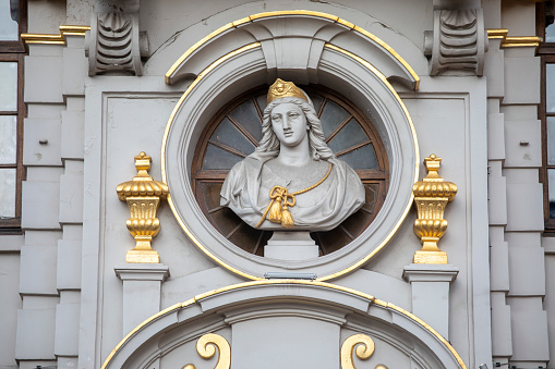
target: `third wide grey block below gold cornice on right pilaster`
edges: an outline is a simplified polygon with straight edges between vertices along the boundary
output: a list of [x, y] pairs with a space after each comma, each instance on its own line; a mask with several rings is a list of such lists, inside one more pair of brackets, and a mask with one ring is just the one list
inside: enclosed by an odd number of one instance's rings
[[507, 231], [543, 231], [541, 183], [507, 184]]

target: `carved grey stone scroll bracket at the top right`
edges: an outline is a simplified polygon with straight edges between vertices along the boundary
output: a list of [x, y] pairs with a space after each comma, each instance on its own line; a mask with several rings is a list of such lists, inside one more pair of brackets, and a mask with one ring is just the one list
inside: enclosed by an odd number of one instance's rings
[[468, 71], [483, 75], [487, 34], [482, 9], [434, 11], [434, 30], [424, 33], [424, 54], [430, 75], [445, 71]]

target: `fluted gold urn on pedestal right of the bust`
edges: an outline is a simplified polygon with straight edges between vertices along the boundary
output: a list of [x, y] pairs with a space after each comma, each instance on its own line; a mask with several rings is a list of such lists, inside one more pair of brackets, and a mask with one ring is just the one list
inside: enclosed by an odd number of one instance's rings
[[437, 242], [447, 231], [447, 221], [443, 218], [447, 202], [457, 195], [457, 185], [445, 182], [437, 174], [442, 158], [432, 153], [424, 159], [427, 175], [414, 183], [412, 194], [417, 205], [418, 219], [414, 233], [420, 237], [422, 249], [414, 254], [414, 263], [447, 263], [447, 254], [439, 250]]

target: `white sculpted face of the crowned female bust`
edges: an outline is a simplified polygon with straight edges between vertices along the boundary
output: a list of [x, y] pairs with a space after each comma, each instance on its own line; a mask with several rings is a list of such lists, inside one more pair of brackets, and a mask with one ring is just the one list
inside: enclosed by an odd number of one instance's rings
[[270, 116], [272, 128], [282, 145], [294, 147], [306, 137], [306, 116], [299, 106], [281, 103], [272, 110]]

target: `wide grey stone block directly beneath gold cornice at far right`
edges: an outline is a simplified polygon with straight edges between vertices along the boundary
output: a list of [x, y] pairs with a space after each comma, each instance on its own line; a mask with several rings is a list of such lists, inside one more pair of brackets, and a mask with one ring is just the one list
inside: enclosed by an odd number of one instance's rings
[[505, 58], [503, 103], [540, 103], [540, 58]]

